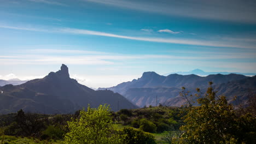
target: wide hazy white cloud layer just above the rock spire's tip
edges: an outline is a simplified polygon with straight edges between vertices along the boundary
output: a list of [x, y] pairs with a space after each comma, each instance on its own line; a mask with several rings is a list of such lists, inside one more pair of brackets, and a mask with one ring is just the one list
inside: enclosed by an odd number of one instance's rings
[[[31, 51], [31, 50], [28, 50]], [[33, 51], [33, 50], [32, 50]], [[65, 56], [62, 54], [67, 54], [71, 52], [79, 52], [75, 50], [49, 50], [41, 49], [42, 52], [33, 51], [33, 55], [28, 55], [24, 53], [22, 55], [10, 55], [10, 56], [0, 56], [0, 65], [16, 65], [16, 64], [76, 64], [76, 65], [115, 65], [120, 63], [148, 63], [154, 61], [194, 61], [201, 63], [202, 61], [220, 59], [248, 59], [254, 58], [253, 55], [248, 55], [248, 53], [230, 53], [230, 55], [225, 55], [225, 53], [207, 53], [207, 55], [193, 55], [193, 56], [175, 56], [175, 55], [120, 55], [116, 53], [103, 53], [101, 55], [95, 55], [95, 53], [76, 53], [77, 56]], [[46, 51], [46, 53], [44, 52]], [[60, 51], [60, 52], [59, 52]], [[53, 53], [48, 53], [53, 52]], [[60, 55], [61, 53], [61, 55]], [[129, 60], [129, 61], [127, 61]]]

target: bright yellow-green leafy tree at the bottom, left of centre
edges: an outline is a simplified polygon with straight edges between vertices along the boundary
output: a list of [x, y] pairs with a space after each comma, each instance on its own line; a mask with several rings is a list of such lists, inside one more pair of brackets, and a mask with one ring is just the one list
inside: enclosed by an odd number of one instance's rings
[[80, 111], [80, 118], [68, 122], [69, 132], [65, 143], [118, 143], [119, 136], [113, 129], [109, 106], [97, 109], [88, 106], [88, 111]]

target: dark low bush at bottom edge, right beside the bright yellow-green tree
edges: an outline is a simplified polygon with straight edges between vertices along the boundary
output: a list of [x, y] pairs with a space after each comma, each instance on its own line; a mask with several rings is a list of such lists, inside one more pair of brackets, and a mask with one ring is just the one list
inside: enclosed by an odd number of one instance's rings
[[124, 128], [121, 131], [121, 139], [124, 144], [155, 144], [154, 136], [132, 128]]

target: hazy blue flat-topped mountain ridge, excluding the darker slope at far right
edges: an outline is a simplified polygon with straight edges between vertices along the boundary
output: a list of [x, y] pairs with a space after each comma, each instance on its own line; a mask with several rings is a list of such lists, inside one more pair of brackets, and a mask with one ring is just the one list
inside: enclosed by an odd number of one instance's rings
[[[214, 85], [218, 85], [220, 83], [242, 80], [246, 78], [247, 76], [238, 74], [216, 74], [205, 77], [194, 74], [171, 74], [168, 76], [162, 76], [151, 71], [143, 73], [142, 77], [137, 80], [123, 82], [115, 87], [99, 89], [109, 89], [111, 91], [118, 92], [136, 105], [143, 107], [144, 105], [156, 105], [156, 95], [158, 95], [158, 103], [162, 104], [170, 98], [179, 98], [179, 92], [182, 91], [181, 87], [187, 87], [190, 91], [194, 91], [194, 89], [197, 87], [205, 89], [210, 81], [212, 81]], [[183, 103], [184, 101], [178, 99], [173, 103], [168, 104], [181, 106]]]

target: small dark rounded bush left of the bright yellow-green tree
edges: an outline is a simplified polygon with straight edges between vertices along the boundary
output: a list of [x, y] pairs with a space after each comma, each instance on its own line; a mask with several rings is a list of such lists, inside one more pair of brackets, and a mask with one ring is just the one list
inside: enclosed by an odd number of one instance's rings
[[[49, 125], [46, 128], [46, 130], [43, 131], [42, 136], [49, 137], [50, 139], [54, 139], [54, 140], [60, 140], [63, 138], [64, 135], [65, 135], [65, 131], [63, 131], [59, 127], [54, 127], [53, 125]], [[45, 139], [44, 137], [42, 137], [42, 139]]]

